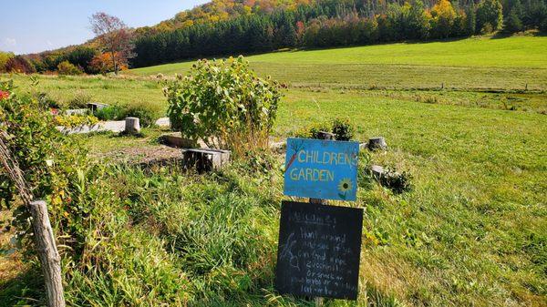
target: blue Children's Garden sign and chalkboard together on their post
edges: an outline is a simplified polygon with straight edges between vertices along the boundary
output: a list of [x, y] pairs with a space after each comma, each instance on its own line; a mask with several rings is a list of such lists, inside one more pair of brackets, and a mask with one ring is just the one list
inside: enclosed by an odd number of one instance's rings
[[[289, 138], [279, 233], [276, 288], [281, 293], [356, 300], [363, 210], [326, 206], [356, 200], [357, 142]], [[319, 205], [319, 206], [313, 206]]]

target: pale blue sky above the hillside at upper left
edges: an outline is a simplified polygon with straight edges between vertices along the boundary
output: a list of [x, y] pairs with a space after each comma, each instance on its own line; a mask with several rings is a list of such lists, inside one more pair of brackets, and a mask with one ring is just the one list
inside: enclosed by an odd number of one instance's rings
[[9, 0], [0, 12], [0, 50], [26, 54], [93, 37], [88, 17], [116, 15], [128, 26], [153, 26], [208, 0]]

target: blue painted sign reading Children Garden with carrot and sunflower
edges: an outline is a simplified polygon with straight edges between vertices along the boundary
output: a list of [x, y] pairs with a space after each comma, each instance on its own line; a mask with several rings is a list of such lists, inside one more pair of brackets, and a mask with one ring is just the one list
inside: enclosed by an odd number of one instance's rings
[[359, 143], [288, 138], [284, 194], [324, 200], [356, 200]]

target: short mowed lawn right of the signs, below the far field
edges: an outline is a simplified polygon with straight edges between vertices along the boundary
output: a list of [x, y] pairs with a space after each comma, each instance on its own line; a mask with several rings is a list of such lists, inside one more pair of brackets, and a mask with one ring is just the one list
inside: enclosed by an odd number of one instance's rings
[[547, 117], [338, 92], [294, 92], [281, 135], [351, 118], [384, 136], [375, 164], [407, 170], [414, 190], [362, 189], [363, 280], [425, 306], [544, 306]]

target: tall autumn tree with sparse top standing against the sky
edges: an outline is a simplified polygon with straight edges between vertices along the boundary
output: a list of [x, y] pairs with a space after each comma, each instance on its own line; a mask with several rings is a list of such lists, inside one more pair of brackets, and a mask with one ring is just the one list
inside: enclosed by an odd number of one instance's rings
[[102, 51], [110, 55], [114, 73], [118, 75], [128, 59], [133, 57], [131, 31], [118, 17], [106, 13], [96, 13], [89, 18], [91, 29], [98, 38]]

